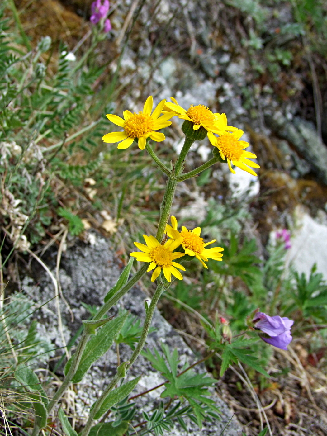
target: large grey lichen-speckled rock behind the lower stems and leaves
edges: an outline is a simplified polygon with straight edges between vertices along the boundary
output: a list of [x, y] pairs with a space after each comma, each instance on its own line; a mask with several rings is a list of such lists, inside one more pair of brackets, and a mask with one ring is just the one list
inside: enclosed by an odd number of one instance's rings
[[[103, 297], [106, 295], [110, 287], [116, 282], [120, 272], [120, 267], [114, 252], [109, 247], [109, 242], [103, 238], [96, 238], [95, 245], [85, 245], [79, 243], [67, 250], [61, 258], [60, 281], [63, 295], [67, 303], [74, 313], [74, 322], [71, 320], [70, 313], [61, 301], [61, 313], [63, 321], [63, 331], [65, 340], [68, 341], [81, 325], [81, 320], [86, 319], [89, 315], [87, 311], [81, 307], [81, 303], [100, 306]], [[30, 278], [24, 281], [24, 291], [29, 294], [34, 301], [39, 304], [50, 300], [54, 295], [53, 286], [48, 276], [43, 275], [38, 277], [39, 283], [33, 285]], [[138, 286], [133, 287], [112, 309], [112, 314], [116, 314], [119, 308], [129, 310], [133, 315], [144, 319], [144, 300], [145, 294]], [[41, 307], [38, 311], [38, 321], [44, 337], [48, 337], [57, 346], [62, 346], [60, 334], [58, 334], [58, 322], [54, 301], [51, 300], [48, 304]], [[158, 310], [155, 310], [152, 326], [155, 331], [151, 333], [147, 339], [146, 347], [160, 349], [160, 343], [166, 343], [170, 350], [177, 348], [181, 358], [181, 366], [194, 363], [197, 358], [191, 349], [184, 343], [182, 338], [174, 331], [160, 315]], [[119, 345], [121, 361], [128, 360], [131, 350], [125, 344]], [[77, 426], [83, 426], [89, 414], [89, 408], [92, 403], [99, 398], [103, 389], [108, 384], [112, 375], [116, 372], [117, 354], [116, 346], [113, 346], [105, 355], [102, 356], [95, 364], [92, 365], [83, 380], [76, 385], [75, 394], [75, 413]], [[205, 371], [204, 365], [197, 369]], [[149, 361], [142, 355], [137, 359], [136, 363], [130, 369], [127, 380], [142, 375], [139, 384], [133, 391], [133, 394], [139, 394], [152, 388], [164, 381], [161, 375], [153, 370]], [[160, 401], [160, 393], [162, 390], [157, 389], [146, 395], [137, 398], [136, 405], [138, 413], [150, 411], [154, 405]], [[225, 429], [225, 436], [241, 436], [242, 429], [235, 418], [232, 418], [232, 412], [228, 406], [218, 397], [214, 390], [212, 396], [221, 410], [221, 421], [208, 423], [204, 425], [202, 430], [194, 426], [194, 423], [187, 421], [189, 432], [186, 433], [180, 426], [176, 425], [169, 432], [171, 436], [184, 436], [186, 434], [193, 436], [215, 435], [219, 436]], [[231, 419], [232, 418], [232, 419]], [[140, 418], [142, 419], [142, 418]]]

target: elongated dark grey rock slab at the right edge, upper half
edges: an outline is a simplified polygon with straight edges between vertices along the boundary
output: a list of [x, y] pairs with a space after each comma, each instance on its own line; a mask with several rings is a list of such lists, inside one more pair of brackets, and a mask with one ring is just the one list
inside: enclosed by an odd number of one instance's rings
[[313, 123], [294, 117], [289, 121], [281, 112], [266, 115], [267, 125], [280, 137], [289, 141], [310, 165], [317, 177], [327, 184], [327, 147], [321, 141]]

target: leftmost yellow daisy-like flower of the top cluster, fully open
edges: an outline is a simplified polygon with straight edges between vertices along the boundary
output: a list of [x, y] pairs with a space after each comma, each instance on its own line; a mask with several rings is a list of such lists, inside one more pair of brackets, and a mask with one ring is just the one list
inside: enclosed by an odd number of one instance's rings
[[[153, 141], [164, 141], [164, 133], [155, 132], [155, 130], [163, 129], [171, 124], [168, 119], [172, 118], [174, 113], [164, 113], [160, 116], [166, 99], [161, 100], [157, 107], [152, 112], [153, 98], [152, 95], [146, 99], [144, 103], [143, 111], [139, 113], [132, 113], [128, 110], [123, 112], [123, 118], [120, 116], [108, 113], [107, 118], [119, 127], [123, 127], [123, 132], [112, 132], [102, 136], [104, 142], [115, 143], [120, 142], [117, 148], [123, 150], [128, 148], [135, 138], [139, 140], [139, 148], [144, 150], [146, 145], [146, 138], [151, 138]], [[151, 113], [152, 112], [152, 113]]]

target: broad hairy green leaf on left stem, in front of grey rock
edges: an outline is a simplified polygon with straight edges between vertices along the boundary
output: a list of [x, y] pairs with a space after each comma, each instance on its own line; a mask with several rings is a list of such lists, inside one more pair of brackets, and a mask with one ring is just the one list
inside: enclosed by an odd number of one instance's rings
[[[126, 320], [128, 312], [122, 313], [111, 321], [108, 321], [103, 327], [99, 329], [96, 335], [92, 336], [85, 346], [81, 361], [78, 365], [77, 371], [72, 378], [73, 383], [78, 383], [84, 377], [86, 371], [90, 368], [93, 362], [98, 360], [109, 348], [112, 346], [113, 341], [119, 334], [120, 329]], [[72, 364], [73, 356], [68, 360], [65, 365], [64, 373], [67, 375], [70, 365]]]

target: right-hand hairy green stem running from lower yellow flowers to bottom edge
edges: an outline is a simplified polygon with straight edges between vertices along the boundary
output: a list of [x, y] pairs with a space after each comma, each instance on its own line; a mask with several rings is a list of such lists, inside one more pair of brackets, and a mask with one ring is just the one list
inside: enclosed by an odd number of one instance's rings
[[[145, 341], [146, 341], [146, 337], [149, 333], [149, 329], [150, 329], [150, 324], [152, 321], [152, 317], [153, 317], [153, 313], [155, 308], [157, 307], [157, 303], [159, 301], [159, 298], [161, 296], [161, 294], [168, 289], [168, 287], [170, 286], [170, 283], [167, 285], [164, 285], [162, 282], [158, 282], [157, 285], [157, 290], [153, 295], [153, 298], [151, 300], [150, 306], [146, 312], [146, 317], [144, 320], [144, 324], [143, 324], [143, 330], [142, 330], [142, 334], [140, 337], [140, 341], [137, 344], [137, 347], [135, 348], [135, 350], [133, 351], [133, 354], [131, 356], [131, 358], [129, 359], [129, 363], [126, 363], [126, 370], [128, 370], [131, 365], [136, 361], [136, 359], [138, 358], [138, 356], [140, 355], [140, 352], [142, 351]], [[117, 382], [119, 381], [119, 379], [123, 378], [123, 375], [119, 374], [119, 372], [117, 372], [117, 374], [115, 375], [115, 377], [112, 379], [112, 381], [109, 383], [109, 385], [106, 387], [106, 389], [103, 391], [102, 395], [99, 397], [99, 399], [95, 402], [94, 407], [92, 408], [90, 414], [89, 414], [89, 419], [87, 420], [85, 427], [81, 433], [81, 436], [88, 436], [94, 417], [95, 415], [99, 412], [102, 403], [104, 402], [104, 400], [106, 399], [107, 395], [109, 394], [109, 392], [112, 390], [112, 388], [115, 387], [115, 385], [117, 384]]]

